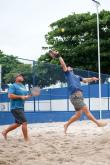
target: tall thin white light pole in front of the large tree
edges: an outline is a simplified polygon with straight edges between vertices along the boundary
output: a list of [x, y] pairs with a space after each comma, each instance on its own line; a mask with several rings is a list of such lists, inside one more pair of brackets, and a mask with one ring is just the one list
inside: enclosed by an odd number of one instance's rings
[[100, 3], [96, 0], [92, 0], [95, 5], [96, 5], [96, 9], [97, 9], [97, 42], [98, 42], [98, 72], [99, 72], [99, 108], [100, 108], [100, 119], [102, 118], [102, 101], [101, 101], [101, 96], [102, 96], [102, 92], [101, 92], [101, 66], [100, 66], [100, 31], [99, 31], [99, 6]]

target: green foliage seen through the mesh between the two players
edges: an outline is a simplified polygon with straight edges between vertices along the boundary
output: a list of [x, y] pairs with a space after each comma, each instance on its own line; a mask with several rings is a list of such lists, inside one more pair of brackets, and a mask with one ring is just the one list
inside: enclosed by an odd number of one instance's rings
[[58, 81], [65, 82], [63, 71], [58, 65], [36, 63], [34, 73], [35, 84], [40, 87], [50, 86]]

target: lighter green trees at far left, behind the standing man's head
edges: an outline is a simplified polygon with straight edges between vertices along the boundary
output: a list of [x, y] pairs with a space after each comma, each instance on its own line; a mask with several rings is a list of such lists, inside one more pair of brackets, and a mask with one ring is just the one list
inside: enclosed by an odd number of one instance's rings
[[23, 64], [17, 57], [8, 56], [0, 51], [0, 65], [2, 65], [2, 84], [13, 82], [16, 73], [24, 74], [26, 83], [32, 84], [32, 67], [30, 64]]

